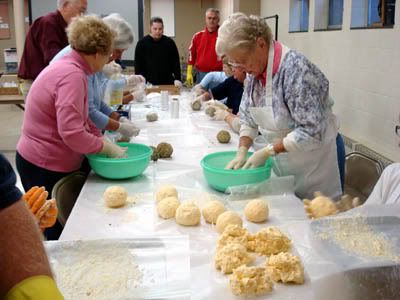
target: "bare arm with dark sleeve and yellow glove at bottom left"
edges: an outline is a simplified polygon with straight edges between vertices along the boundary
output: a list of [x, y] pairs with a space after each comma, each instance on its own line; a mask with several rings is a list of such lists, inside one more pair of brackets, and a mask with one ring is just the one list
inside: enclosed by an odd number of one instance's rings
[[0, 155], [0, 299], [63, 299], [39, 228], [15, 182], [10, 163]]

